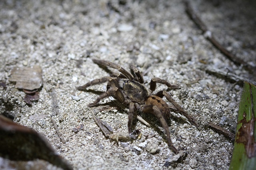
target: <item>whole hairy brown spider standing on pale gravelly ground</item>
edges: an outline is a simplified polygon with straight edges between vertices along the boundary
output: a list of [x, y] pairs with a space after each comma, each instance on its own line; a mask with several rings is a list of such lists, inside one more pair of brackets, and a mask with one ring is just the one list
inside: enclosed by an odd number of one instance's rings
[[170, 117], [170, 108], [167, 103], [162, 100], [162, 97], [165, 96], [166, 99], [171, 102], [177, 110], [184, 112], [185, 116], [189, 119], [190, 122], [192, 122], [192, 124], [196, 124], [194, 123], [194, 120], [191, 119], [191, 117], [186, 115], [185, 111], [173, 100], [173, 98], [170, 96], [170, 94], [168, 94], [168, 92], [166, 92], [166, 90], [157, 92], [154, 95], [152, 94], [152, 92], [154, 92], [156, 89], [156, 83], [165, 84], [170, 88], [174, 88], [176, 86], [172, 86], [166, 80], [160, 78], [152, 78], [150, 82], [150, 90], [148, 90], [143, 84], [144, 80], [142, 74], [135, 66], [130, 67], [132, 72], [131, 74], [116, 63], [96, 59], [93, 59], [92, 61], [100, 66], [109, 66], [111, 68], [115, 68], [120, 73], [112, 73], [110, 76], [98, 78], [86, 83], [84, 86], [77, 87], [78, 90], [82, 90], [95, 84], [108, 82], [107, 91], [102, 93], [92, 104], [89, 104], [88, 107], [96, 106], [100, 100], [109, 96], [113, 96], [116, 98], [116, 100], [119, 100], [121, 103], [129, 106], [129, 133], [132, 133], [132, 120], [137, 111], [152, 113], [156, 115], [166, 132], [168, 146], [175, 153], [178, 153], [178, 150], [172, 144], [169, 127], [166, 123], [166, 119]]

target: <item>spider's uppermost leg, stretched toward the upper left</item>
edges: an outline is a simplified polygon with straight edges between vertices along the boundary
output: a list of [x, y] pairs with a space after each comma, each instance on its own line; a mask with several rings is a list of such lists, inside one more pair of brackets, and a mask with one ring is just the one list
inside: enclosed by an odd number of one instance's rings
[[111, 63], [109, 61], [105, 61], [105, 60], [96, 60], [96, 59], [92, 59], [92, 61], [98, 65], [102, 65], [102, 66], [110, 66], [111, 68], [117, 69], [118, 71], [120, 71], [122, 74], [124, 74], [124, 76], [126, 76], [128, 79], [133, 80], [133, 76], [130, 72], [126, 71], [124, 68], [122, 68], [120, 65], [116, 64], [116, 63]]

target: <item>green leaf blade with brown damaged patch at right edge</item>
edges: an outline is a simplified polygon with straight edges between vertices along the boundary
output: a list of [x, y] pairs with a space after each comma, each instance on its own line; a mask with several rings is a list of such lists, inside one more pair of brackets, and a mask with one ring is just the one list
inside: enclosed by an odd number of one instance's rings
[[256, 86], [244, 82], [230, 170], [256, 169]]

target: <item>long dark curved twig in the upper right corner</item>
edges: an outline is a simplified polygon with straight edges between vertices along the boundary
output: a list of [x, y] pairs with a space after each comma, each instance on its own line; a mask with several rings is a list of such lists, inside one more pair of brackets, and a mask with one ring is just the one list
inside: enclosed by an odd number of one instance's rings
[[209, 29], [207, 28], [207, 26], [204, 24], [204, 22], [195, 14], [194, 10], [192, 9], [190, 3], [188, 1], [185, 1], [185, 5], [186, 5], [186, 13], [190, 16], [190, 18], [194, 21], [194, 23], [196, 23], [196, 25], [198, 25], [198, 27], [203, 31], [203, 34], [205, 35], [205, 37], [208, 39], [208, 41], [210, 41], [217, 49], [219, 49], [224, 55], [226, 55], [226, 57], [234, 62], [237, 65], [241, 65], [243, 64], [244, 66], [246, 66], [249, 69], [252, 69], [251, 65], [248, 65], [245, 61], [243, 61], [242, 59], [239, 59], [238, 57], [236, 57], [235, 55], [231, 54], [228, 50], [226, 50], [216, 39], [215, 37], [212, 35], [212, 32], [209, 31]]

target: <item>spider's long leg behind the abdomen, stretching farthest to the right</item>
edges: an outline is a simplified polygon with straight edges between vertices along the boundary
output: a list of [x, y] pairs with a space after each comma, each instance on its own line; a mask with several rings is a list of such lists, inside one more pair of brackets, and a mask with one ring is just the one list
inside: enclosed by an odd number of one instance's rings
[[156, 96], [160, 98], [165, 96], [166, 99], [178, 110], [180, 114], [184, 115], [192, 125], [198, 127], [196, 123], [196, 118], [189, 115], [177, 102], [175, 102], [174, 98], [172, 98], [172, 96], [168, 92], [166, 92], [166, 90], [158, 92]]

